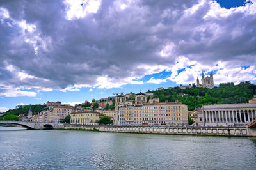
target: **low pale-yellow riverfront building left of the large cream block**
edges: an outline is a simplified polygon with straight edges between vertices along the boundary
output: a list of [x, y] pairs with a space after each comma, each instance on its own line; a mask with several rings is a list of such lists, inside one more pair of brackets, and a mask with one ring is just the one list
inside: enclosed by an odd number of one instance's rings
[[95, 111], [72, 112], [70, 124], [98, 125], [100, 113]]

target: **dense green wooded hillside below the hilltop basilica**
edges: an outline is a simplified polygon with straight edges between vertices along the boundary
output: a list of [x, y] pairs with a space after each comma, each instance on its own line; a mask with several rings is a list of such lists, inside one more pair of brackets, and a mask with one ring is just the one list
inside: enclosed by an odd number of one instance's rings
[[186, 88], [179, 87], [164, 89], [163, 91], [151, 91], [153, 98], [159, 98], [159, 102], [183, 102], [188, 105], [188, 110], [194, 110], [195, 107], [202, 107], [208, 104], [235, 104], [246, 103], [251, 100], [256, 93], [256, 85], [250, 82], [241, 82], [238, 85], [233, 83], [222, 83], [220, 87], [213, 89], [207, 88]]

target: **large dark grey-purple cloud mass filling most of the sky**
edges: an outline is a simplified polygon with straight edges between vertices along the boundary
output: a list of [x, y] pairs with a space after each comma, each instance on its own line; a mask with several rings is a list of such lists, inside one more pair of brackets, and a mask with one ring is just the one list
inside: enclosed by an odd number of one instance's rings
[[[115, 2], [102, 1], [97, 13], [67, 20], [68, 7], [62, 1], [2, 1], [1, 8], [10, 15], [0, 23], [2, 84], [65, 89], [74, 84], [93, 86], [97, 77], [106, 76], [122, 82], [148, 73], [143, 66], [172, 67], [178, 56], [209, 65], [255, 65], [256, 15], [240, 11], [205, 17], [212, 4], [198, 5], [191, 12], [199, 3], [132, 1], [120, 10]], [[22, 20], [35, 30], [23, 31]], [[166, 45], [173, 48], [161, 57]], [[10, 65], [15, 71], [3, 76]], [[18, 72], [32, 77], [21, 81]]]

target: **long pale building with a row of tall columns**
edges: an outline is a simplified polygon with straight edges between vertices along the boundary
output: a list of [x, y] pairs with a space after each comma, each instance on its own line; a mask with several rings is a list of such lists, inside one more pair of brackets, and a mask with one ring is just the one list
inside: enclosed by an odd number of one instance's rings
[[256, 119], [256, 103], [203, 105], [205, 126], [245, 125]]

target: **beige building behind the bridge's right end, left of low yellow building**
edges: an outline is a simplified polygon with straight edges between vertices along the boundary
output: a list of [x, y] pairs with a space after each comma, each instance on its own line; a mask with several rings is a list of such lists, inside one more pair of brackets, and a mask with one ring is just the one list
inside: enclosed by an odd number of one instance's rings
[[50, 108], [47, 114], [47, 122], [61, 122], [68, 114], [71, 114], [71, 112], [72, 109], [66, 106]]

